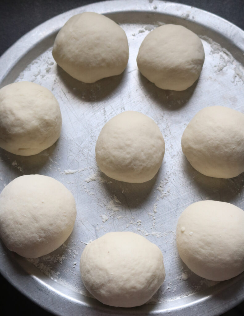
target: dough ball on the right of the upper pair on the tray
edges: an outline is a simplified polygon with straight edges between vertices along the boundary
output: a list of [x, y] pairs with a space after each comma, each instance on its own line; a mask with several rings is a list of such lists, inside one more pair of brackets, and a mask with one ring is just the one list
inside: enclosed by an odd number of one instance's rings
[[203, 44], [195, 33], [181, 25], [166, 24], [145, 37], [137, 66], [157, 87], [181, 91], [198, 79], [204, 57]]

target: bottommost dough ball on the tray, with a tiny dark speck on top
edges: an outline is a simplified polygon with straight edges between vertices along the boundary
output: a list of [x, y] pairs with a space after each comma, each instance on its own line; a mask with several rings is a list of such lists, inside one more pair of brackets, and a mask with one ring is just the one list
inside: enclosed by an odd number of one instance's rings
[[97, 300], [117, 307], [146, 303], [165, 279], [160, 249], [131, 232], [108, 233], [88, 244], [80, 271], [85, 287]]

